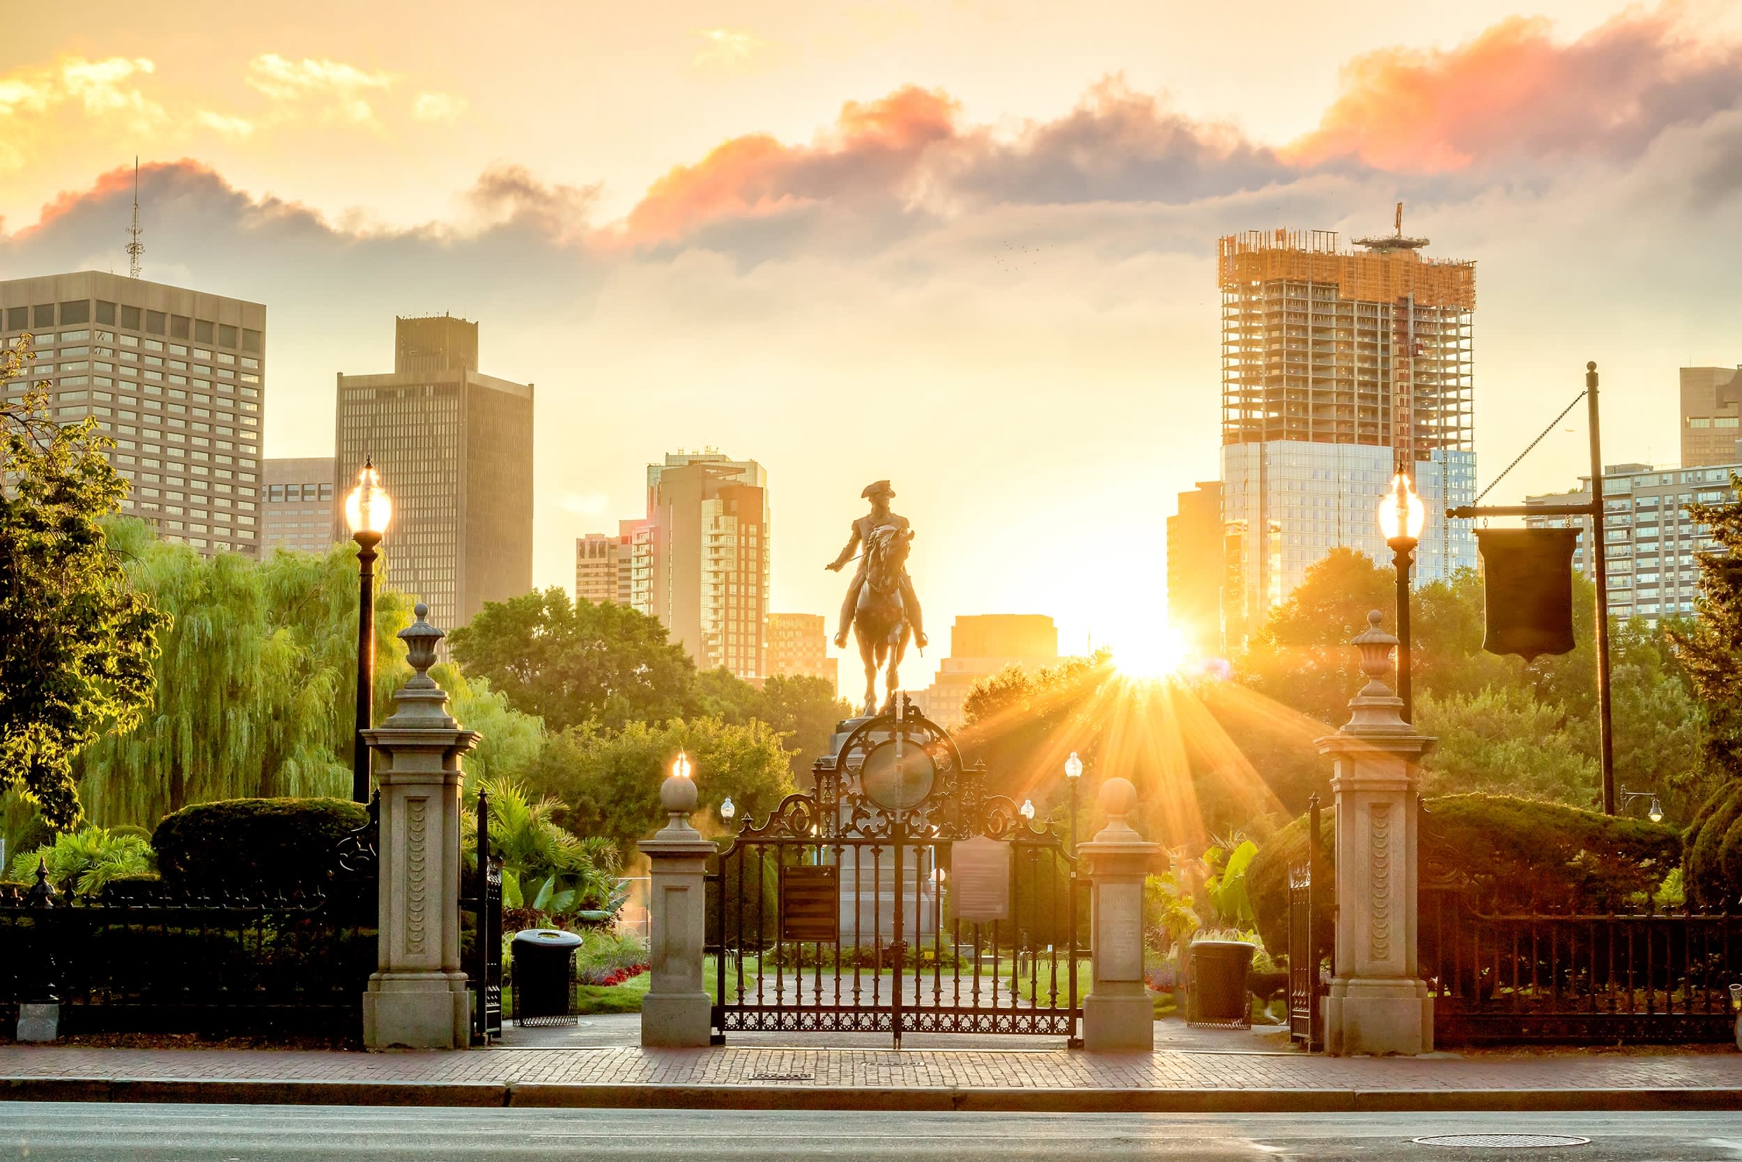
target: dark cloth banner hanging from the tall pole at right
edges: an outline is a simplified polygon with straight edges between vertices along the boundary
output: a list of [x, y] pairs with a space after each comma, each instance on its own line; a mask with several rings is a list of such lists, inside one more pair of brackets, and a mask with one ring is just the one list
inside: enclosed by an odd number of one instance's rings
[[1577, 528], [1479, 528], [1488, 596], [1489, 653], [1573, 652], [1573, 547]]

